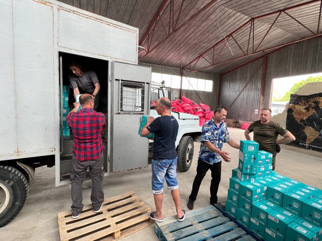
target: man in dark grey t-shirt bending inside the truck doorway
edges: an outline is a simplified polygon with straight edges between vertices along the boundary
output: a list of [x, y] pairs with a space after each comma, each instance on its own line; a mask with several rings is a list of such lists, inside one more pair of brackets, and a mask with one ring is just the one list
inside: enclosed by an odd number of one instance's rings
[[[92, 70], [83, 70], [78, 62], [71, 62], [69, 69], [73, 73], [69, 75], [70, 87], [73, 89], [74, 98], [76, 94], [90, 94], [94, 98], [94, 111], [99, 106], [99, 79]], [[82, 93], [80, 93], [80, 89]]]

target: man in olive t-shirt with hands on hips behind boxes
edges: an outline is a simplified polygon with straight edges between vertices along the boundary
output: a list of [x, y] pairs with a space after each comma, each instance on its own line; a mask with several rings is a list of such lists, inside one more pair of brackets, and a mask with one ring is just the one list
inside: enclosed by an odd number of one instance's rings
[[[273, 154], [273, 170], [275, 169], [276, 145], [289, 143], [295, 140], [295, 137], [284, 126], [270, 121], [272, 111], [263, 108], [260, 111], [260, 120], [254, 121], [245, 130], [246, 140], [251, 140], [249, 133], [254, 132], [254, 141], [259, 143], [259, 150], [267, 151]], [[278, 135], [284, 138], [277, 140]]]

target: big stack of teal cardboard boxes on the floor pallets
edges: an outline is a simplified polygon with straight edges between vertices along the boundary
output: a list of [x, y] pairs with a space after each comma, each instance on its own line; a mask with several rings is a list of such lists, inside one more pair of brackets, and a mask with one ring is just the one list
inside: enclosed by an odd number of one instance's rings
[[263, 240], [322, 238], [322, 190], [272, 171], [272, 154], [258, 143], [240, 143], [226, 212]]

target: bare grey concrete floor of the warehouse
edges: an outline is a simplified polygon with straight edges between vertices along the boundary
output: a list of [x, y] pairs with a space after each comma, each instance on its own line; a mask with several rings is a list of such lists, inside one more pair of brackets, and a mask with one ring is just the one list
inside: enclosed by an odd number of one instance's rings
[[[241, 129], [229, 128], [232, 138], [239, 142], [244, 138]], [[194, 162], [189, 171], [178, 172], [177, 179], [181, 192], [181, 205], [187, 209], [186, 203], [196, 174], [196, 160], [199, 152], [199, 143], [194, 145]], [[283, 147], [282, 147], [283, 148]], [[229, 177], [232, 169], [238, 165], [238, 150], [224, 144], [223, 150], [232, 158], [231, 163], [222, 164], [222, 181], [218, 191], [219, 202], [227, 199]], [[277, 156], [275, 171], [308, 185], [322, 189], [322, 160], [318, 155], [305, 155], [282, 149]], [[71, 206], [69, 185], [55, 187], [55, 169], [40, 167], [36, 169], [35, 181], [30, 184], [29, 197], [21, 212], [8, 225], [0, 228], [1, 240], [60, 240], [57, 225], [57, 213], [68, 210]], [[209, 205], [210, 172], [207, 173], [199, 190], [194, 208]], [[144, 169], [131, 170], [122, 173], [113, 173], [104, 178], [105, 198], [113, 197], [125, 192], [134, 191], [152, 210], [154, 208], [153, 194], [151, 192], [150, 166]], [[83, 203], [90, 203], [91, 189], [83, 190]], [[164, 217], [175, 215], [175, 207], [171, 192], [165, 189], [163, 201]], [[154, 225], [144, 228], [122, 239], [129, 240], [158, 240]]]

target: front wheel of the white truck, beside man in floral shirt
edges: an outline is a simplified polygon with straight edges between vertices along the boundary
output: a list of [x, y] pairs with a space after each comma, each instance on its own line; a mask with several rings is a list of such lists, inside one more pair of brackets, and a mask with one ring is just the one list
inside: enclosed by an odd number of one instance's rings
[[177, 149], [177, 155], [178, 169], [182, 172], [188, 171], [194, 156], [194, 140], [191, 136], [184, 136], [181, 138]]

